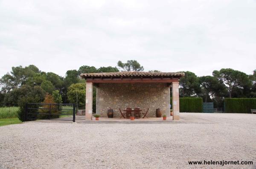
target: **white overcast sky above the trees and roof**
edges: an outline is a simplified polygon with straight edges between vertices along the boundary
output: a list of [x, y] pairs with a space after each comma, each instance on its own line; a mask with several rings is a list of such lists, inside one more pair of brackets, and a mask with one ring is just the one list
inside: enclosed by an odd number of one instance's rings
[[256, 0], [0, 0], [0, 76], [136, 59], [198, 76], [256, 69]]

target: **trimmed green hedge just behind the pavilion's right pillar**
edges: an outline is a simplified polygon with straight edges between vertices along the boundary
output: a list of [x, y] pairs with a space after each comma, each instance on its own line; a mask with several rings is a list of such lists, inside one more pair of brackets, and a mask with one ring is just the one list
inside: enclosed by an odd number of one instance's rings
[[[172, 104], [172, 98], [171, 98]], [[173, 107], [173, 104], [172, 104]], [[180, 112], [202, 113], [203, 98], [180, 98]]]

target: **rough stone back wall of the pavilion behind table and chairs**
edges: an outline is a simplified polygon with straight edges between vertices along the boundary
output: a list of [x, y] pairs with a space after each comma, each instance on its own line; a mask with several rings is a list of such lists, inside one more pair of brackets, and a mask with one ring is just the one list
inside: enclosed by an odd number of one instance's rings
[[162, 114], [170, 113], [170, 88], [165, 83], [105, 83], [96, 90], [96, 113], [107, 117], [108, 108], [114, 111], [114, 118], [120, 117], [119, 108], [140, 107], [148, 117], [156, 116], [156, 109]]

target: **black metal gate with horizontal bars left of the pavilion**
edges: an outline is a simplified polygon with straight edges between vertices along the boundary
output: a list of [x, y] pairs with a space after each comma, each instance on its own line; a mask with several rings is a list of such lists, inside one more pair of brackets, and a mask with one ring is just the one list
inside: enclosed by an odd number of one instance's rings
[[[26, 121], [37, 119], [76, 121], [76, 104], [26, 103]], [[66, 119], [73, 115], [73, 119]]]

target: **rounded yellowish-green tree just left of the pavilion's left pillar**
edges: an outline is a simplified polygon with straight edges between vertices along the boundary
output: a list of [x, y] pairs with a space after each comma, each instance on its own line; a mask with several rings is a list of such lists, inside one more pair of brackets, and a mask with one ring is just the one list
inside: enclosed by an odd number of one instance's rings
[[76, 103], [76, 98], [78, 99], [78, 105], [85, 105], [85, 83], [76, 83], [70, 85], [67, 90], [67, 98], [70, 103]]

